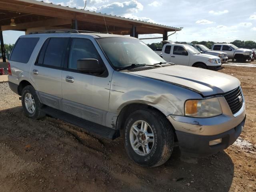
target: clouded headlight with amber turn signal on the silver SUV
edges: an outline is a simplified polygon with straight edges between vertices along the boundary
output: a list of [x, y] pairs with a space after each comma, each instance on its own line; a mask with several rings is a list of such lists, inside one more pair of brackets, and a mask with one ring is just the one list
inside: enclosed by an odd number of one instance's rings
[[213, 117], [222, 114], [218, 98], [187, 100], [185, 103], [185, 116]]

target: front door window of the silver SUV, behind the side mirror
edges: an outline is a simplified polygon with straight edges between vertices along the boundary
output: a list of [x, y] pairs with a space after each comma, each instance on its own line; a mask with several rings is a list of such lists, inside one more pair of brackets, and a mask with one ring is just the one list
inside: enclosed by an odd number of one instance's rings
[[94, 44], [88, 39], [74, 38], [72, 40], [68, 68], [76, 69], [77, 60], [80, 59], [97, 59], [102, 63]]

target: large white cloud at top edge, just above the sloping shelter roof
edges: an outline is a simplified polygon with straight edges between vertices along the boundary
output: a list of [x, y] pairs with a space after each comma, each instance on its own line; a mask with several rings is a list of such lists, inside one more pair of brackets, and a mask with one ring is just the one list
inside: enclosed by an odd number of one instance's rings
[[100, 6], [97, 11], [107, 14], [124, 15], [126, 13], [137, 13], [141, 10], [143, 10], [143, 5], [140, 2], [130, 0], [122, 3], [114, 2], [106, 4]]

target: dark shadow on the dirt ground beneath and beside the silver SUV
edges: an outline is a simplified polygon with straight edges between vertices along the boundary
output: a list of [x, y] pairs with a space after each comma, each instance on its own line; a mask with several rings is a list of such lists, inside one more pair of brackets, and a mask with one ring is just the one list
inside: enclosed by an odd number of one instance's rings
[[[147, 168], [128, 158], [121, 137], [111, 141], [50, 117], [28, 119], [20, 106], [0, 110], [0, 122], [0, 144], [10, 145], [8, 151], [17, 156], [15, 159], [4, 156], [1, 160], [5, 161], [6, 172], [2, 172], [0, 180], [3, 184], [6, 182], [7, 187], [24, 186], [23, 182], [16, 183], [15, 177], [6, 179], [10, 168], [21, 166], [18, 163], [14, 166], [15, 161], [25, 165], [37, 162], [35, 167], [24, 166], [20, 174], [26, 175], [32, 169], [44, 180], [51, 181], [46, 183], [48, 189], [58, 191], [91, 188], [91, 191], [124, 192], [228, 192], [234, 176], [234, 164], [224, 151], [207, 158], [188, 158], [176, 147], [164, 165]], [[3, 146], [0, 153], [2, 149]], [[26, 176], [28, 189], [38, 191], [40, 177], [37, 181]]]

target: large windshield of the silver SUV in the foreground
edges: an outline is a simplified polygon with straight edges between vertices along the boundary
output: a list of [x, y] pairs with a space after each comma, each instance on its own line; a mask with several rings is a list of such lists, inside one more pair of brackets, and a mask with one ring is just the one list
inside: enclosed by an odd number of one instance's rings
[[102, 50], [116, 68], [132, 64], [153, 65], [165, 62], [149, 46], [133, 38], [100, 38], [97, 39]]

